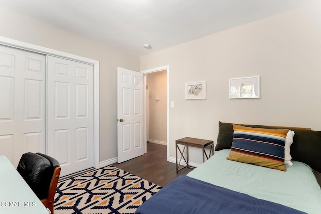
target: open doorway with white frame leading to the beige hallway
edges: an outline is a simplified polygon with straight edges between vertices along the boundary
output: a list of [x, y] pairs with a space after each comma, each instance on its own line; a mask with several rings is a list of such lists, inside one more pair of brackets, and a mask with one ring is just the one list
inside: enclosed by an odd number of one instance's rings
[[[149, 91], [149, 142], [167, 146], [169, 161], [169, 66], [142, 71], [144, 74], [145, 145], [147, 153], [147, 93]], [[147, 89], [148, 85], [148, 89]], [[157, 126], [161, 126], [157, 127]]]

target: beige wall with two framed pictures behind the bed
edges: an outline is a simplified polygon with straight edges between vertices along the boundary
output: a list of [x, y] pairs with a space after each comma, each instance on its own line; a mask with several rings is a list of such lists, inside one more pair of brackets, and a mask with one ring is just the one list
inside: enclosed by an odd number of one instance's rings
[[[216, 142], [218, 121], [321, 130], [320, 7], [299, 9], [142, 56], [140, 69], [169, 65], [170, 157], [182, 137]], [[229, 79], [261, 76], [261, 98], [229, 99]], [[184, 83], [207, 81], [206, 100]], [[201, 151], [190, 161], [201, 163]]]

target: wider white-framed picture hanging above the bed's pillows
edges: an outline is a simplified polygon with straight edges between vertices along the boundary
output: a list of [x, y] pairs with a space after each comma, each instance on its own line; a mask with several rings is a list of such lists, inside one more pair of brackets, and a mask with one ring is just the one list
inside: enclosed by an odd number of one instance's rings
[[260, 76], [230, 79], [230, 99], [260, 98]]

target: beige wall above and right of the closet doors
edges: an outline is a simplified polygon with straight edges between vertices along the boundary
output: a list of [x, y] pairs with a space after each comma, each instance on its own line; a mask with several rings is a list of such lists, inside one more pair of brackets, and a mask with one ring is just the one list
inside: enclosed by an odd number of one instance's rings
[[100, 62], [100, 161], [117, 157], [117, 67], [139, 70], [139, 57], [4, 8], [0, 36]]

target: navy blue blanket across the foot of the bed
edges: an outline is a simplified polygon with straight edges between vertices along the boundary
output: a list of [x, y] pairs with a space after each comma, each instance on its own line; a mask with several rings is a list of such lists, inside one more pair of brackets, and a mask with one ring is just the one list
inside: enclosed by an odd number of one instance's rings
[[303, 212], [181, 175], [145, 201], [135, 213], [295, 214]]

